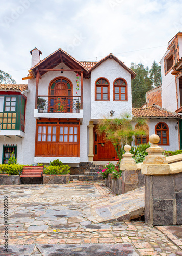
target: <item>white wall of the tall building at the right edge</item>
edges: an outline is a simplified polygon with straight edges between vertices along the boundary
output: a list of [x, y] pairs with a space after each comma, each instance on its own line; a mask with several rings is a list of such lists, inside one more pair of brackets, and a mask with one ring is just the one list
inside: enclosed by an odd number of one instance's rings
[[[166, 54], [169, 51], [166, 52]], [[164, 55], [164, 57], [166, 56]], [[161, 62], [161, 77], [162, 77], [162, 87], [161, 87], [161, 96], [162, 96], [162, 108], [165, 108], [170, 111], [175, 111], [178, 109], [177, 98], [176, 98], [176, 83], [175, 76], [171, 75], [171, 71], [165, 75], [164, 70], [164, 57]]]

